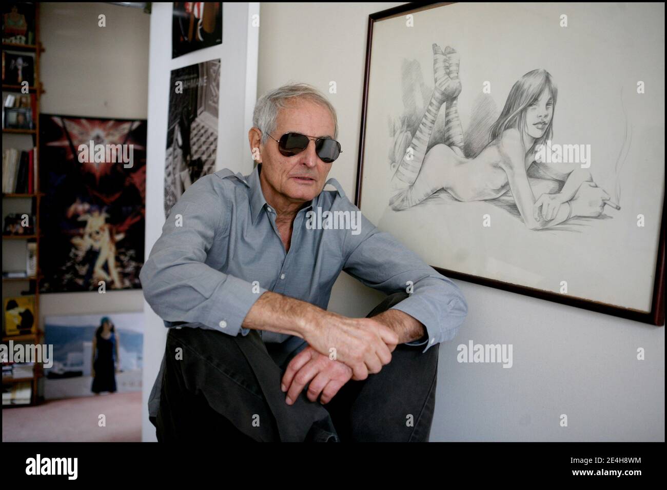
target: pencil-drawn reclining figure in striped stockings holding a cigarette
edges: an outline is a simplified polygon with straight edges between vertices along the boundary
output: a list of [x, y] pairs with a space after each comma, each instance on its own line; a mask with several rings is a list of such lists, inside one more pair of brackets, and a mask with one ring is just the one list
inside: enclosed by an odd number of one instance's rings
[[[587, 169], [578, 163], [536, 161], [536, 147], [540, 149], [538, 145], [547, 145], [552, 138], [558, 95], [546, 70], [530, 71], [514, 83], [490, 128], [489, 143], [476, 157], [466, 158], [457, 108], [461, 93], [458, 53], [449, 46], [443, 51], [436, 44], [433, 53], [435, 87], [419, 128], [392, 176], [392, 209], [407, 209], [444, 189], [458, 201], [496, 199], [511, 191], [530, 229], [552, 227], [573, 217], [602, 215], [610, 196], [594, 183]], [[427, 151], [443, 105], [444, 143]], [[530, 175], [542, 178], [529, 181], [529, 167]]]

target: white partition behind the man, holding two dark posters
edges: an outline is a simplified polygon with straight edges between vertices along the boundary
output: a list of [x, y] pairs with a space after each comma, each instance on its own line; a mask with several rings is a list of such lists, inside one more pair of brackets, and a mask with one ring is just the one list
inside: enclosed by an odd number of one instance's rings
[[[169, 77], [171, 70], [221, 59], [217, 159], [215, 169], [229, 168], [247, 174], [253, 161], [247, 132], [257, 91], [257, 28], [251, 16], [259, 3], [224, 3], [222, 44], [171, 59], [171, 3], [153, 3], [151, 13], [148, 155], [146, 174], [146, 255], [162, 233], [164, 225], [164, 167], [167, 143]], [[246, 83], [246, 79], [248, 82]], [[145, 303], [146, 332], [143, 344], [142, 440], [157, 441], [155, 426], [148, 419], [148, 397], [165, 351], [167, 329]]]

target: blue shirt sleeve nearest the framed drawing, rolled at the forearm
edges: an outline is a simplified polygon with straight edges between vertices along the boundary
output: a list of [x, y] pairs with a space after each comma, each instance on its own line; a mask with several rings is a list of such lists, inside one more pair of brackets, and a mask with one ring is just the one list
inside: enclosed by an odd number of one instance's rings
[[409, 293], [392, 308], [422, 322], [428, 339], [406, 345], [424, 345], [426, 352], [432, 345], [452, 340], [468, 314], [468, 303], [458, 286], [364, 215], [361, 231], [356, 237], [346, 237], [344, 248], [349, 255], [343, 270], [384, 293]]

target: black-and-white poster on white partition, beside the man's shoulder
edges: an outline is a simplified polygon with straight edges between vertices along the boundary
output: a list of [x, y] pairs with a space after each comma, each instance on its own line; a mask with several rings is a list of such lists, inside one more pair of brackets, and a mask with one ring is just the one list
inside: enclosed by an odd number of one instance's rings
[[215, 171], [219, 86], [219, 59], [171, 71], [165, 217], [190, 185]]

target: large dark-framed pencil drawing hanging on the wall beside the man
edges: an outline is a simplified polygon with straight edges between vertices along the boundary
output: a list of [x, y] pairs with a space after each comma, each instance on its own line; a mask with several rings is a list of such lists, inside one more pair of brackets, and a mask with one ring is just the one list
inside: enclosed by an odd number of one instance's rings
[[664, 324], [664, 4], [370, 15], [356, 205], [440, 272]]

